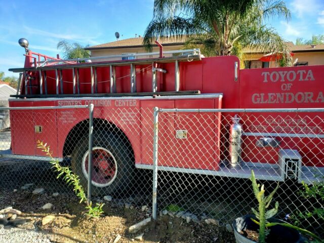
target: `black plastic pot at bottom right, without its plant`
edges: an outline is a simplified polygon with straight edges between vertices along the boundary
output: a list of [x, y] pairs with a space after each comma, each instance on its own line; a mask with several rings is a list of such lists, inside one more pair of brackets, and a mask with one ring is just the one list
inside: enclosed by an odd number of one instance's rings
[[[239, 217], [233, 222], [234, 235], [236, 243], [252, 243], [256, 242], [254, 240], [248, 239], [246, 236], [241, 235], [240, 232], [245, 229], [253, 230], [258, 232], [259, 225], [254, 223], [251, 218], [255, 219], [255, 215], [246, 215], [244, 217]], [[270, 218], [269, 222], [272, 223], [286, 223], [283, 220]], [[286, 226], [275, 225], [269, 227], [270, 233], [266, 237], [266, 242], [276, 242], [279, 239], [281, 242], [299, 243], [303, 242], [301, 234], [293, 228]]]

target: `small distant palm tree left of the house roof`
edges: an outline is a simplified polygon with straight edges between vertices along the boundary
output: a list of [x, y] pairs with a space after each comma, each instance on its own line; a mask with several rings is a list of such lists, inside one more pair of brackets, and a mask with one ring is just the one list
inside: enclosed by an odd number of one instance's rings
[[90, 57], [90, 52], [88, 50], [85, 50], [84, 48], [89, 47], [85, 46], [83, 47], [82, 45], [74, 42], [74, 43], [69, 43], [65, 39], [60, 41], [57, 44], [57, 49], [62, 50], [63, 52], [63, 57], [65, 59], [73, 59], [73, 58], [87, 58]]

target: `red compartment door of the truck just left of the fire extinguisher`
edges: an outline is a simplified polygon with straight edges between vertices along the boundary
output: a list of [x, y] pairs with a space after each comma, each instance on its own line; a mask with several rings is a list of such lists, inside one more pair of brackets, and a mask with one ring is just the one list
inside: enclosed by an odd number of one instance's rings
[[[213, 99], [176, 100], [175, 107], [179, 109], [206, 108], [211, 109]], [[186, 130], [187, 139], [175, 140], [175, 160], [173, 167], [214, 169], [215, 124], [213, 113], [178, 113], [175, 130]], [[174, 132], [175, 134], [175, 132]], [[215, 168], [217, 170], [217, 167]]]

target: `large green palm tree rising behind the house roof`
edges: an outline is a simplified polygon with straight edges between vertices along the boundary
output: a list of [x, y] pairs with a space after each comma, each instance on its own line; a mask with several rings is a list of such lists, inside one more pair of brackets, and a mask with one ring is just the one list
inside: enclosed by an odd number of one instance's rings
[[154, 0], [153, 19], [145, 30], [143, 44], [151, 50], [158, 37], [186, 37], [185, 48], [200, 47], [205, 56], [240, 56], [248, 48], [280, 53], [287, 64], [291, 56], [285, 40], [265, 24], [276, 16], [291, 17], [283, 1]]

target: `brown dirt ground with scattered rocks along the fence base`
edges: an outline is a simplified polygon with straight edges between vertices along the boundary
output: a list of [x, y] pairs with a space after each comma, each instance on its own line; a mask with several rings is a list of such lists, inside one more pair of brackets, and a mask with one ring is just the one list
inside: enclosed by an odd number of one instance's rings
[[[100, 200], [100, 198], [97, 198]], [[51, 203], [51, 211], [41, 209], [46, 203]], [[2, 190], [0, 192], [0, 209], [12, 206], [22, 211], [20, 218], [26, 223], [18, 225], [21, 228], [34, 227], [48, 234], [52, 242], [110, 242], [117, 235], [119, 242], [135, 241], [136, 236], [144, 233], [142, 242], [235, 242], [232, 232], [224, 226], [207, 224], [203, 220], [199, 223], [169, 215], [159, 216], [157, 221], [152, 221], [137, 233], [129, 233], [128, 228], [150, 217], [149, 212], [142, 212], [140, 207], [134, 205], [125, 208], [121, 201], [105, 202], [104, 216], [98, 219], [89, 218], [85, 213], [84, 205], [78, 204], [73, 194], [51, 193], [34, 195], [31, 190]], [[54, 221], [42, 226], [45, 216], [55, 216]]]

